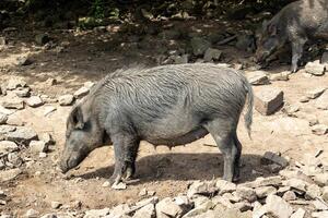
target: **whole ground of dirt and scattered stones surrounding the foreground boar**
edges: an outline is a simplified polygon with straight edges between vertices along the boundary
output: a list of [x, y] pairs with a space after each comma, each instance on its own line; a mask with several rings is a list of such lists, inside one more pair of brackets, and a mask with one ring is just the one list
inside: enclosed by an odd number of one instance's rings
[[[3, 29], [0, 217], [328, 217], [328, 56], [316, 55], [295, 74], [283, 57], [259, 70], [254, 35], [244, 25], [188, 20], [160, 27]], [[58, 171], [68, 112], [97, 80], [133, 64], [186, 62], [242, 69], [254, 85], [253, 140], [243, 120], [238, 128], [237, 184], [220, 180], [223, 158], [211, 136], [172, 150], [143, 142], [138, 180], [124, 190], [106, 182], [112, 146], [69, 174]]]

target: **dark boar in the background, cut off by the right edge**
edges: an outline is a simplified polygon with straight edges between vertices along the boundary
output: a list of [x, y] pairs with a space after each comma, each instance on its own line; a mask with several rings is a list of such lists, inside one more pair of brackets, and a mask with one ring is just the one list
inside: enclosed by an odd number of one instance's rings
[[295, 1], [284, 7], [269, 22], [263, 22], [256, 59], [259, 63], [266, 63], [271, 55], [290, 44], [291, 71], [296, 72], [305, 43], [316, 39], [328, 39], [328, 0]]

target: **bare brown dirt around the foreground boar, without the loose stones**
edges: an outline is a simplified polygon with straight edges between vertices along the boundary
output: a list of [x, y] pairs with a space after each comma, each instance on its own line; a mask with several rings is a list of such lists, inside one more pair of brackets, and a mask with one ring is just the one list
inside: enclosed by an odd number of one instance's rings
[[[192, 26], [191, 29], [214, 32], [222, 29], [219, 22], [195, 22], [192, 25], [176, 23], [176, 26]], [[86, 81], [96, 82], [107, 73], [131, 64], [156, 65], [159, 52], [155, 44], [156, 36], [141, 38], [137, 44], [133, 35], [121, 37], [113, 32], [97, 33], [48, 31], [57, 45], [62, 45], [63, 51], [44, 49], [34, 45], [34, 35], [42, 31], [13, 32], [7, 34], [9, 46], [0, 51], [0, 82], [4, 83], [12, 76], [23, 77], [32, 89], [38, 94], [60, 96], [72, 94]], [[188, 29], [187, 29], [188, 31]], [[132, 39], [131, 39], [132, 38]], [[130, 41], [130, 43], [126, 43]], [[150, 44], [150, 45], [147, 45]], [[172, 43], [174, 44], [174, 41]], [[178, 44], [178, 43], [177, 43]], [[161, 46], [161, 45], [160, 45]], [[253, 55], [235, 49], [233, 46], [218, 46], [224, 58], [220, 62], [239, 63], [248, 60]], [[30, 53], [33, 64], [16, 66], [15, 58]], [[278, 73], [289, 69], [289, 65], [273, 64], [270, 73]], [[306, 77], [304, 70], [292, 74], [289, 81], [273, 82], [270, 86], [279, 87], [284, 92], [288, 104], [296, 104], [306, 90], [319, 86], [327, 86], [328, 76]], [[48, 86], [45, 81], [49, 77], [58, 81], [57, 85]], [[255, 86], [255, 93], [262, 87]], [[11, 211], [22, 216], [28, 208], [40, 213], [51, 210], [51, 202], [73, 208], [77, 201], [82, 203], [82, 210], [87, 208], [112, 207], [121, 203], [137, 202], [139, 192], [147, 187], [155, 191], [159, 197], [176, 196], [185, 192], [190, 181], [211, 180], [223, 173], [223, 158], [210, 135], [186, 146], [177, 146], [169, 150], [165, 146], [154, 148], [142, 142], [137, 162], [137, 178], [140, 179], [128, 185], [127, 190], [114, 191], [103, 187], [102, 184], [110, 177], [114, 169], [114, 152], [110, 145], [94, 150], [82, 165], [68, 175], [57, 170], [57, 161], [65, 143], [66, 119], [70, 107], [60, 107], [54, 104], [57, 110], [50, 117], [44, 117], [45, 106], [19, 111], [17, 116], [33, 126], [37, 133], [49, 132], [56, 140], [47, 158], [33, 157], [24, 172], [17, 179], [0, 184], [1, 190], [9, 193], [10, 201], [0, 206], [0, 211]], [[302, 104], [301, 111], [318, 117], [320, 123], [328, 124], [328, 111], [319, 111], [313, 101]], [[265, 152], [280, 152], [291, 158], [292, 162], [301, 161], [305, 154], [314, 155], [327, 145], [327, 136], [314, 135], [311, 126], [302, 119], [288, 117], [282, 111], [273, 116], [263, 117], [254, 112], [253, 140], [249, 140], [241, 119], [238, 128], [239, 140], [243, 144], [242, 180], [253, 181], [257, 177], [267, 177], [268, 170], [260, 165]], [[26, 153], [28, 156], [28, 153]], [[328, 158], [328, 153], [323, 156]]]

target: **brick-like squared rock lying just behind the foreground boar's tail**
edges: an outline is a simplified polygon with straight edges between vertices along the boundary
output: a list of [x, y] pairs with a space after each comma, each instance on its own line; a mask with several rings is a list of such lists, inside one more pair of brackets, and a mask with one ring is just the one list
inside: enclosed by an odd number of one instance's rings
[[283, 104], [283, 92], [279, 88], [266, 87], [255, 94], [255, 109], [263, 116], [276, 112]]

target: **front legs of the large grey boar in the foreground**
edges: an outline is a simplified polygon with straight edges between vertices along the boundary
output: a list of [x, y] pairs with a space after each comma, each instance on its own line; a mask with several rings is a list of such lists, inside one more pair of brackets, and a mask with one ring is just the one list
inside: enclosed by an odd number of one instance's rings
[[115, 169], [110, 177], [110, 183], [119, 183], [124, 175], [132, 177], [134, 161], [139, 148], [139, 140], [130, 134], [116, 134], [112, 136], [115, 153]]

